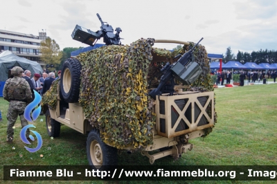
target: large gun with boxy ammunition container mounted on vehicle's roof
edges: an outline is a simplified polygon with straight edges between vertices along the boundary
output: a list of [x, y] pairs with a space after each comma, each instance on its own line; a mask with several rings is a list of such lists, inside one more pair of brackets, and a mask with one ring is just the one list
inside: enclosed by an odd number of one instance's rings
[[102, 21], [99, 14], [96, 15], [101, 22], [101, 30], [93, 32], [87, 28], [76, 25], [71, 35], [72, 39], [88, 44], [89, 46], [94, 46], [98, 39], [103, 37], [103, 42], [105, 42], [106, 45], [120, 45], [121, 38], [119, 37], [119, 33], [122, 32], [122, 30], [120, 28], [116, 28], [116, 34], [114, 34], [114, 28], [107, 24], [107, 22]]

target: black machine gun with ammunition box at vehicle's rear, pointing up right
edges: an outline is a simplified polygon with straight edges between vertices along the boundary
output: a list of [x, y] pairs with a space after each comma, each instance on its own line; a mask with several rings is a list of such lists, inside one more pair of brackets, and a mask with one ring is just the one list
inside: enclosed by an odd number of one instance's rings
[[[202, 39], [200, 39], [199, 42], [201, 42]], [[180, 57], [175, 64], [170, 65], [170, 63], [167, 62], [166, 66], [161, 69], [161, 71], [163, 71], [163, 75], [161, 76], [159, 86], [157, 89], [153, 89], [149, 93], [154, 100], [156, 100], [156, 95], [161, 95], [162, 93], [172, 94], [175, 92], [173, 73], [178, 75], [182, 82], [187, 85], [190, 85], [197, 80], [199, 75], [202, 73], [202, 68], [196, 62], [193, 62], [194, 59], [192, 59], [192, 56], [193, 51], [199, 42], [195, 44], [193, 48], [188, 50], [188, 52], [184, 53], [184, 55]], [[177, 57], [179, 57], [179, 55], [177, 55]], [[168, 82], [170, 82], [170, 84], [167, 84]]]

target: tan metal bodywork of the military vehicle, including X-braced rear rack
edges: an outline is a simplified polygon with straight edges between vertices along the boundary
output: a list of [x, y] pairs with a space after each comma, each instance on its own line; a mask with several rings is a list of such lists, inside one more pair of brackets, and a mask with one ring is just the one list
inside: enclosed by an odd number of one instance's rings
[[[156, 43], [159, 42], [188, 44], [187, 42], [156, 40]], [[159, 61], [160, 59], [161, 58], [159, 56], [153, 56], [154, 61]], [[70, 89], [71, 73], [64, 72], [64, 75], [63, 84], [67, 84], [67, 86], [63, 86], [63, 88]], [[193, 149], [193, 144], [190, 144], [188, 140], [203, 136], [205, 133], [204, 129], [213, 127], [214, 125], [214, 92], [183, 92], [183, 89], [187, 87], [188, 86], [175, 86], [175, 95], [168, 96], [167, 94], [163, 94], [157, 96], [157, 100], [152, 100], [153, 112], [155, 112], [157, 116], [156, 125], [153, 129], [153, 144], [148, 145], [143, 149], [139, 149], [144, 156], [148, 156], [151, 164], [154, 163], [154, 160], [169, 155], [173, 156], [175, 159], [181, 157], [182, 153]], [[203, 97], [206, 99], [206, 102], [201, 104], [198, 99]], [[48, 118], [52, 118], [57, 122], [60, 122], [62, 125], [75, 129], [82, 134], [87, 134], [87, 132], [93, 129], [89, 123], [89, 120], [84, 117], [82, 107], [78, 102], [69, 103], [69, 108], [66, 109], [65, 114], [60, 114], [60, 102], [62, 101], [60, 99], [61, 98], [58, 97], [56, 109], [49, 109], [51, 117]], [[179, 107], [177, 104], [179, 100], [184, 100], [186, 102], [184, 107]], [[172, 122], [174, 119], [172, 118], [172, 107], [174, 107], [177, 112], [175, 112], [175, 114], [179, 115], [179, 117], [175, 118], [175, 122]], [[199, 111], [199, 114], [195, 114], [196, 111]], [[211, 116], [208, 116], [207, 111], [211, 111]], [[194, 118], [190, 118], [190, 120], [188, 120], [185, 116], [185, 114], [188, 115], [188, 113], [190, 113], [190, 117]], [[208, 122], [206, 125], [199, 125], [202, 117], [206, 118], [206, 121]], [[47, 122], [51, 121], [48, 120]], [[184, 130], [177, 131], [178, 127], [184, 127], [184, 123], [186, 123], [188, 127]], [[49, 125], [49, 127], [51, 127], [51, 125]], [[135, 151], [135, 149], [131, 147], [125, 147], [124, 149], [127, 149], [127, 151]], [[157, 149], [160, 149], [161, 151], [157, 154], [150, 154], [150, 151]]]

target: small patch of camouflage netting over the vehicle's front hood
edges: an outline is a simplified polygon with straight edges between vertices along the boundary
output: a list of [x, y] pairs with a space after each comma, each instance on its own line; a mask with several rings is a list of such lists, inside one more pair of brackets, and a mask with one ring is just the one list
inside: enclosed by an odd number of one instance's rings
[[51, 88], [44, 93], [42, 96], [42, 102], [41, 105], [44, 107], [44, 105], [48, 104], [48, 107], [50, 109], [56, 109], [57, 106], [57, 95], [59, 94], [60, 91], [60, 79], [55, 80], [51, 84]]

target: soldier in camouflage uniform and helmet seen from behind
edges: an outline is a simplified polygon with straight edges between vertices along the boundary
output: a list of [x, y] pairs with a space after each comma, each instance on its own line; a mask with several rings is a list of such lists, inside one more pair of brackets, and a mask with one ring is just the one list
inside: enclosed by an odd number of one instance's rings
[[[13, 78], [6, 80], [6, 84], [3, 89], [3, 98], [10, 102], [8, 108], [8, 129], [7, 129], [7, 142], [11, 143], [13, 139], [14, 130], [12, 127], [15, 125], [17, 116], [20, 117], [21, 127], [28, 125], [27, 120], [24, 118], [24, 110], [30, 102], [32, 102], [32, 93], [28, 82], [21, 78], [23, 69], [19, 66], [15, 66], [11, 70]], [[29, 138], [30, 131], [27, 129], [26, 137]]]

